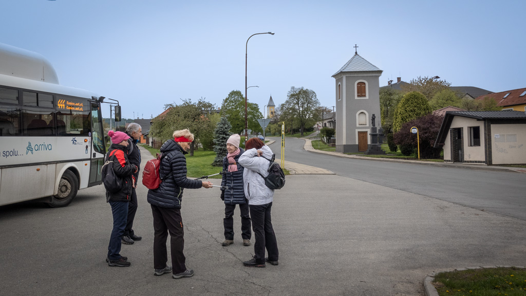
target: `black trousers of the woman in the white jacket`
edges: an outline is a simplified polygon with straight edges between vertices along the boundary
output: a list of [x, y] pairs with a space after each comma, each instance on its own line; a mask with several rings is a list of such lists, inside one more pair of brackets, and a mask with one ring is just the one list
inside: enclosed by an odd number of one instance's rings
[[267, 249], [270, 261], [278, 261], [278, 242], [270, 218], [272, 203], [249, 205], [249, 208], [252, 230], [254, 230], [254, 236], [256, 237], [256, 242], [254, 243], [254, 258], [256, 262], [265, 263], [265, 249]]

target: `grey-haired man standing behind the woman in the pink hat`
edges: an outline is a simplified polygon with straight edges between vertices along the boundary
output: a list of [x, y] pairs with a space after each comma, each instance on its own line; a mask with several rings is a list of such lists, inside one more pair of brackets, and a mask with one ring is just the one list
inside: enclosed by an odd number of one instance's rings
[[135, 235], [135, 232], [132, 229], [138, 206], [135, 188], [138, 184], [140, 171], [140, 151], [139, 147], [137, 146], [137, 142], [140, 140], [142, 132], [142, 127], [140, 127], [140, 125], [135, 122], [128, 124], [126, 127], [126, 134], [130, 137], [128, 139], [128, 160], [131, 164], [137, 166], [137, 171], [133, 174], [135, 182], [131, 190], [131, 198], [128, 204], [128, 219], [126, 220], [126, 228], [124, 229], [124, 234], [122, 237], [122, 242], [124, 244], [133, 244], [135, 241], [140, 241], [143, 239], [141, 236]]

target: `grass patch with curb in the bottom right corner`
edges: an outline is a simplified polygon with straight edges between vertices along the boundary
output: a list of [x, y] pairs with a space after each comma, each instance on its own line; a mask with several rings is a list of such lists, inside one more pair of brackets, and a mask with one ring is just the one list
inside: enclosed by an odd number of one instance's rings
[[433, 285], [440, 296], [526, 295], [526, 269], [480, 268], [441, 272]]

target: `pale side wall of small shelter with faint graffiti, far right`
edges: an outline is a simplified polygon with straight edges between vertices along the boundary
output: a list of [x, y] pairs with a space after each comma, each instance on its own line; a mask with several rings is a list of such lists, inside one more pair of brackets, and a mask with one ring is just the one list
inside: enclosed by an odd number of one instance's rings
[[491, 125], [493, 164], [526, 163], [526, 124]]

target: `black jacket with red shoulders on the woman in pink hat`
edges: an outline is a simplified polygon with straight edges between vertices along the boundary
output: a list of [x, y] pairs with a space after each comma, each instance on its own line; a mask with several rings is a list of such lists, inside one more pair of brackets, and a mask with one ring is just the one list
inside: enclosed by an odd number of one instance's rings
[[[112, 153], [115, 150], [114, 153]], [[110, 156], [110, 154], [113, 154]], [[137, 167], [131, 164], [128, 160], [128, 153], [126, 146], [119, 144], [112, 144], [109, 146], [106, 154], [106, 161], [113, 161], [113, 170], [115, 174], [123, 178], [123, 187], [114, 193], [106, 192], [106, 197], [109, 196], [109, 201], [129, 201], [131, 196], [133, 173]]]

